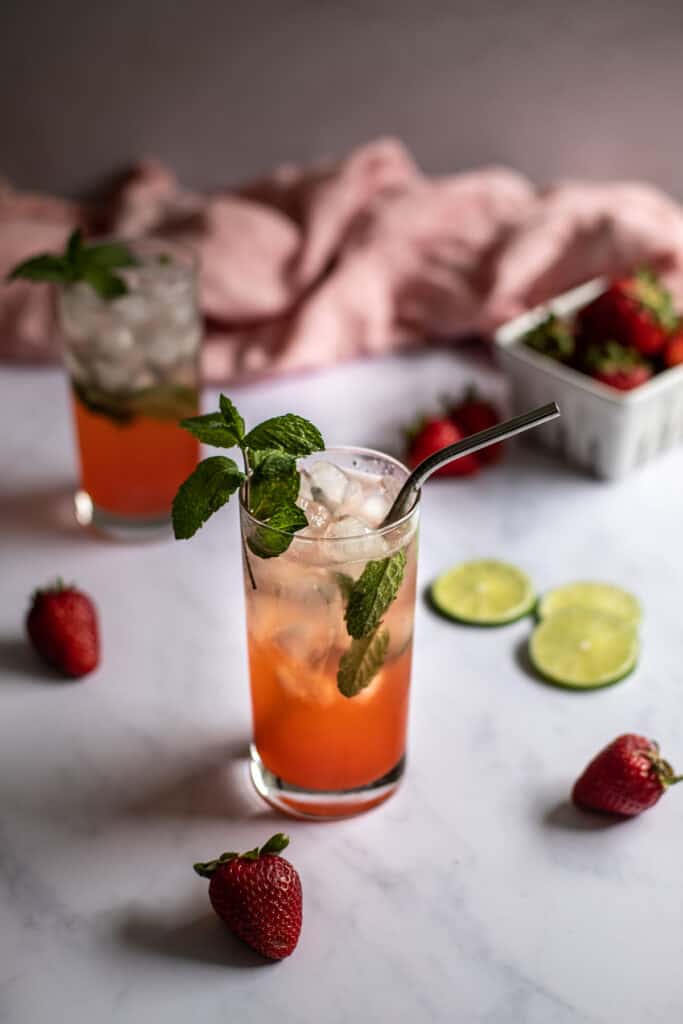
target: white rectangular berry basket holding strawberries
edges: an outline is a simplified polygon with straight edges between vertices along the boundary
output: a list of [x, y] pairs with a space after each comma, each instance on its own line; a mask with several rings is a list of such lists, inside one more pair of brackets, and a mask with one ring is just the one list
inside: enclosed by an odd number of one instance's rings
[[596, 279], [516, 316], [494, 336], [515, 412], [557, 401], [561, 416], [532, 433], [595, 476], [616, 479], [683, 439], [683, 366], [617, 391], [524, 345], [548, 313], [566, 316], [604, 291]]

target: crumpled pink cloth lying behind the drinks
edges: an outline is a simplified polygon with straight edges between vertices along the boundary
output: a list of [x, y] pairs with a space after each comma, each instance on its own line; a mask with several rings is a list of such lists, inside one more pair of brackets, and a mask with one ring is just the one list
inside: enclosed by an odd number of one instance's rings
[[[391, 139], [340, 163], [285, 166], [199, 195], [147, 161], [99, 207], [0, 185], [0, 274], [90, 233], [156, 233], [201, 259], [209, 381], [313, 370], [490, 331], [596, 273], [665, 270], [683, 299], [683, 210], [644, 184], [564, 182], [539, 194], [487, 168], [427, 178]], [[49, 359], [47, 286], [0, 289], [0, 356]]]

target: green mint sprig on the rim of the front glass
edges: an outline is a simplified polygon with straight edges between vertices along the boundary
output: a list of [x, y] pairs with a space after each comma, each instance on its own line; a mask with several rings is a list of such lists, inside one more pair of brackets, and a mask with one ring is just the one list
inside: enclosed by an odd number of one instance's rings
[[[243, 483], [247, 483], [248, 506], [259, 519], [248, 539], [259, 558], [274, 558], [287, 551], [294, 534], [308, 525], [296, 505], [300, 477], [296, 459], [323, 450], [325, 441], [316, 427], [300, 416], [278, 416], [245, 433], [245, 421], [230, 399], [220, 395], [220, 411], [182, 420], [181, 427], [205, 444], [239, 447], [244, 473], [231, 459], [214, 456], [201, 462], [181, 485], [173, 502], [173, 529], [176, 538], [191, 537]], [[228, 473], [205, 471], [207, 463], [229, 463]], [[236, 473], [238, 475], [236, 475]]]

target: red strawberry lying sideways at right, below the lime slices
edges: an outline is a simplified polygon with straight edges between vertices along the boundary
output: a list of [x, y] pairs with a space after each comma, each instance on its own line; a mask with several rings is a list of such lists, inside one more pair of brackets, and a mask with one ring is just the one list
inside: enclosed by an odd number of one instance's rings
[[656, 804], [668, 786], [680, 782], [651, 739], [627, 733], [591, 761], [574, 783], [571, 799], [580, 807], [632, 817]]

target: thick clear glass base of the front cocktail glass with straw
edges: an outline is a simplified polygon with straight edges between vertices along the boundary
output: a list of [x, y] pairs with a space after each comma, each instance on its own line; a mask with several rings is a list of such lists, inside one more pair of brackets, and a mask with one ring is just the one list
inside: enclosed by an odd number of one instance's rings
[[274, 775], [265, 767], [254, 743], [249, 746], [249, 772], [258, 795], [271, 807], [293, 818], [333, 821], [362, 814], [383, 804], [398, 788], [405, 770], [405, 757], [382, 778], [354, 790], [303, 790]]

